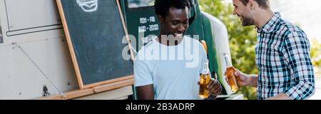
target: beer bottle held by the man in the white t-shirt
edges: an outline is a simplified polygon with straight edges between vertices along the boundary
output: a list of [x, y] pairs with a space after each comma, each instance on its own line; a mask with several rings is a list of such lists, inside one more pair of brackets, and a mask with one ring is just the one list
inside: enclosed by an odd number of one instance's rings
[[208, 70], [208, 60], [205, 61], [205, 69], [203, 73], [200, 75], [200, 92], [198, 96], [200, 98], [208, 98], [208, 84], [210, 83], [210, 71]]

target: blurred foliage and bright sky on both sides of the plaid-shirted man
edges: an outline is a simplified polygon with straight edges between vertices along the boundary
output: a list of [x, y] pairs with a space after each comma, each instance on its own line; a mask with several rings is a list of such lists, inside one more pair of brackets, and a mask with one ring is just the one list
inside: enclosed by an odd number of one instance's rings
[[[233, 66], [244, 73], [258, 74], [255, 65], [256, 31], [253, 26], [243, 27], [233, 15], [232, 0], [199, 0], [200, 9], [217, 17], [228, 28]], [[310, 40], [310, 56], [315, 70], [315, 94], [310, 100], [321, 99], [321, 7], [320, 0], [270, 0], [272, 11], [280, 12], [283, 19], [300, 26]], [[243, 87], [245, 99], [256, 99], [256, 88]]]

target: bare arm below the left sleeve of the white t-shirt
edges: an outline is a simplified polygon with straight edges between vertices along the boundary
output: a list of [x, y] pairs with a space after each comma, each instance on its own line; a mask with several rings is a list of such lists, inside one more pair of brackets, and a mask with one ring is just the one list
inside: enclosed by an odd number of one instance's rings
[[148, 86], [138, 86], [136, 87], [136, 90], [138, 100], [154, 100], [153, 84]]

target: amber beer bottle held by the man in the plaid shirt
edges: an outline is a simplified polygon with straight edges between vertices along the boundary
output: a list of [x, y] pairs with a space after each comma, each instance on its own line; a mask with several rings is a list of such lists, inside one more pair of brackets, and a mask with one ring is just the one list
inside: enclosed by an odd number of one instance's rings
[[228, 53], [224, 53], [225, 63], [226, 63], [226, 78], [228, 78], [228, 83], [230, 85], [230, 88], [233, 92], [240, 89], [240, 86], [238, 85], [238, 82], [240, 81], [240, 78], [235, 77], [235, 68], [230, 63], [230, 59], [228, 57]]

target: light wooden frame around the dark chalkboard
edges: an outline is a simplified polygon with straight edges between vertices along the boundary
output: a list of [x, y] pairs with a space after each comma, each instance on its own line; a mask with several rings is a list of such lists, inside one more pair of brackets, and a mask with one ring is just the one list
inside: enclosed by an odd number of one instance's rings
[[[121, 6], [120, 6], [118, 0], [115, 0], [115, 1], [116, 1], [116, 4], [117, 4], [119, 15], [120, 15], [121, 22], [122, 22], [122, 25], [123, 25], [123, 31], [125, 32], [125, 35], [126, 35], [126, 41], [128, 43], [128, 48], [129, 48], [129, 51], [131, 53], [131, 60], [133, 61], [133, 59], [134, 59], [133, 50], [132, 50], [132, 46], [131, 46], [131, 43], [130, 43], [130, 40], [129, 40], [129, 37], [128, 37], [128, 31], [127, 31], [127, 28], [126, 28], [126, 25], [125, 25], [125, 21], [123, 19]], [[80, 89], [94, 88], [95, 86], [101, 86], [101, 85], [108, 84], [108, 83], [116, 83], [116, 82], [124, 81], [124, 80], [128, 80], [128, 81], [131, 81], [131, 83], [133, 83], [132, 82], [133, 81], [133, 75], [130, 75], [130, 76], [123, 76], [121, 78], [111, 79], [111, 80], [108, 80], [108, 81], [101, 81], [101, 82], [98, 82], [98, 83], [92, 83], [92, 84], [88, 84], [88, 85], [83, 85], [83, 80], [81, 78], [81, 72], [80, 72], [80, 69], [78, 67], [78, 61], [77, 61], [77, 58], [76, 58], [75, 51], [73, 49], [73, 43], [71, 42], [71, 35], [69, 33], [69, 30], [68, 30], [65, 14], [63, 12], [63, 6], [61, 4], [61, 0], [56, 0], [56, 2], [57, 2], [59, 14], [61, 16], [61, 21], [62, 21], [62, 24], [63, 24], [63, 30], [65, 31], [65, 35], [66, 35], [66, 39], [67, 39], [67, 43], [68, 43], [68, 48], [69, 48], [70, 53], [71, 53], [73, 66], [74, 66], [75, 71], [76, 71], [76, 76], [77, 76], [79, 88]]]

